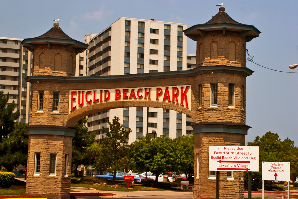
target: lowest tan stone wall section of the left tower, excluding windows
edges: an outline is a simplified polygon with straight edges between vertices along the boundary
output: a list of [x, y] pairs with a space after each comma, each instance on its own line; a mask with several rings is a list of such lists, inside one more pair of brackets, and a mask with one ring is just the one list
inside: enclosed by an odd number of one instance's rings
[[[29, 135], [27, 195], [45, 198], [70, 198], [72, 137], [61, 135]], [[40, 153], [40, 174], [35, 174], [35, 153]], [[50, 154], [56, 156], [56, 174], [49, 175]], [[68, 154], [64, 175], [65, 154]]]

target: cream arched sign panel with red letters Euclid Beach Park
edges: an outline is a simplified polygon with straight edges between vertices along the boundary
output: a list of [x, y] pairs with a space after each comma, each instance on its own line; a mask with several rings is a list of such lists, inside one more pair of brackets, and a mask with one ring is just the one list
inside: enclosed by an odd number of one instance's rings
[[190, 85], [98, 90], [70, 90], [69, 112], [91, 104], [118, 100], [165, 101], [191, 109]]

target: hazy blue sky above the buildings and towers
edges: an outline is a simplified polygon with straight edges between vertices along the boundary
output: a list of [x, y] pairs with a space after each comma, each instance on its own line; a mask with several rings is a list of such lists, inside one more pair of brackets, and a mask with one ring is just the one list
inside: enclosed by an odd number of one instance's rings
[[[85, 0], [14, 1], [0, 0], [0, 37], [32, 38], [46, 33], [53, 20], [73, 39], [100, 33], [120, 17], [203, 24], [218, 13], [224, 3], [235, 21], [254, 25], [260, 33], [247, 43], [253, 61], [285, 72], [298, 64], [297, 1], [226, 0]], [[195, 54], [196, 42], [187, 40], [187, 53]], [[298, 146], [298, 73], [276, 72], [247, 62], [254, 73], [246, 78], [246, 125], [252, 127], [246, 142], [266, 132], [289, 138]]]

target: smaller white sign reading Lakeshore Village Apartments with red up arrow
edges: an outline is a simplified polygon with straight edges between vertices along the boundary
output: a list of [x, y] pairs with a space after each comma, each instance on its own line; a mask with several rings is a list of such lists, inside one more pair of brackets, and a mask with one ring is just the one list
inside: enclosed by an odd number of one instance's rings
[[262, 180], [290, 181], [290, 163], [262, 162]]

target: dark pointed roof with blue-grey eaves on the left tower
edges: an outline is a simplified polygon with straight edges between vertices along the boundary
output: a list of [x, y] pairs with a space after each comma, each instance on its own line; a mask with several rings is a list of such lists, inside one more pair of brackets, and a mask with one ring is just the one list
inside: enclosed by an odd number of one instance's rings
[[77, 54], [83, 52], [89, 46], [88, 44], [84, 44], [66, 35], [57, 22], [55, 22], [53, 27], [43, 35], [27, 38], [22, 41], [23, 47], [31, 52], [36, 49], [36, 44], [48, 44], [49, 49], [51, 49], [51, 44], [66, 45], [66, 50], [70, 50], [72, 47], [76, 48]]

